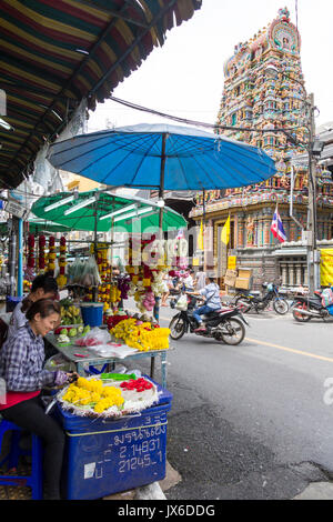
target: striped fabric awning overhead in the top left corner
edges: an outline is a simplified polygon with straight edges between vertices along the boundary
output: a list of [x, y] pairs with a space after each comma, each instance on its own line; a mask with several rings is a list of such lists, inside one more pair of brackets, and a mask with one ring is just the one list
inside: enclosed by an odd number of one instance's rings
[[[201, 0], [1, 0], [0, 187], [16, 188], [83, 98], [102, 102]], [[6, 108], [4, 108], [6, 101]], [[6, 109], [6, 110], [4, 110]]]

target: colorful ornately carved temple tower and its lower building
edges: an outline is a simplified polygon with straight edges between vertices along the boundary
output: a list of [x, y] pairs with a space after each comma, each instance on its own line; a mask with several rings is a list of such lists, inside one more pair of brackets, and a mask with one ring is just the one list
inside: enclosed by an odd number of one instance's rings
[[[309, 132], [304, 127], [309, 106], [300, 50], [301, 37], [286, 8], [279, 11], [268, 28], [235, 46], [234, 54], [224, 63], [224, 89], [216, 122], [223, 128], [218, 132], [262, 148], [275, 160], [278, 173], [260, 184], [198, 194], [190, 214], [198, 224], [204, 214], [205, 223], [213, 230], [211, 249], [219, 259], [220, 278], [226, 269], [228, 253], [232, 253], [239, 267], [253, 269], [254, 288], [276, 277], [283, 277], [284, 284], [306, 282], [305, 259], [297, 259], [297, 268], [289, 278], [283, 259], [276, 254], [276, 249], [283, 249], [270, 231], [276, 203], [289, 242], [301, 240], [301, 225], [306, 228], [307, 165], [295, 161], [306, 152]], [[292, 179], [295, 219], [290, 217]], [[317, 239], [331, 239], [331, 173], [319, 168], [316, 181]], [[219, 230], [228, 215], [231, 239], [225, 249], [219, 242]]]

